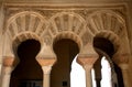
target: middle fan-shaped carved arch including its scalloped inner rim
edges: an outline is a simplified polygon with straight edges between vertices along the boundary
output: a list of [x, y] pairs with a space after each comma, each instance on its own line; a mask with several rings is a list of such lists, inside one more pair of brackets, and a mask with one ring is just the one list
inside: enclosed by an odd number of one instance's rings
[[[77, 13], [74, 12], [59, 12], [50, 19], [50, 25], [47, 32], [52, 39], [72, 39], [75, 42], [79, 42], [81, 47], [81, 35], [86, 31], [86, 21]], [[69, 34], [68, 34], [69, 33]], [[62, 39], [63, 39], [62, 37]]]

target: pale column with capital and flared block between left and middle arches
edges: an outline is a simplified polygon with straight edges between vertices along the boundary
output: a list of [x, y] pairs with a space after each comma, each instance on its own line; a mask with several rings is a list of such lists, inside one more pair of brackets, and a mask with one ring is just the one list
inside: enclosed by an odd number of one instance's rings
[[56, 55], [50, 45], [43, 43], [41, 52], [36, 56], [36, 61], [38, 62], [38, 64], [43, 69], [43, 87], [50, 87], [51, 84], [50, 76], [51, 76], [52, 66], [57, 61]]

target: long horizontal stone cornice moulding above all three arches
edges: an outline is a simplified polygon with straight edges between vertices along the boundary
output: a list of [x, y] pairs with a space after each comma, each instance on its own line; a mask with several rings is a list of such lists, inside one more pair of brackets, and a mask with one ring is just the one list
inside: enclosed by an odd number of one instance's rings
[[44, 8], [112, 8], [123, 7], [127, 2], [2, 2], [4, 7], [44, 7]]

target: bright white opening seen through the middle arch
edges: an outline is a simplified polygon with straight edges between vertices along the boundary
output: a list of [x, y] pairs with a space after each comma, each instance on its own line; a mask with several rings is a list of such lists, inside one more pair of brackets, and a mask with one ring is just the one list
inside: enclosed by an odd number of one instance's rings
[[77, 56], [74, 58], [74, 61], [72, 63], [70, 87], [86, 87], [86, 74], [85, 74], [85, 69], [82, 68], [81, 65], [79, 65], [76, 62]]

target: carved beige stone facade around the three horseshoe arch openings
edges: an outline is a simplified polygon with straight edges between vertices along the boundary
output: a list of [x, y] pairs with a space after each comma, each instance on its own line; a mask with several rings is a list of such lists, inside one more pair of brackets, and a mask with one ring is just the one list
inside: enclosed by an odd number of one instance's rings
[[[98, 36], [112, 42], [112, 61], [129, 65], [132, 79], [131, 0], [1, 0], [0, 6], [0, 65], [12, 65], [12, 58], [3, 56], [16, 56], [18, 46], [29, 39], [41, 43], [37, 62], [46, 66], [57, 61], [52, 50], [55, 42], [70, 39], [78, 44], [79, 54], [90, 55], [95, 51], [89, 44]], [[92, 64], [91, 58], [80, 61]]]

